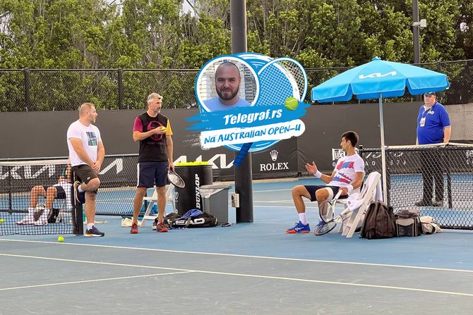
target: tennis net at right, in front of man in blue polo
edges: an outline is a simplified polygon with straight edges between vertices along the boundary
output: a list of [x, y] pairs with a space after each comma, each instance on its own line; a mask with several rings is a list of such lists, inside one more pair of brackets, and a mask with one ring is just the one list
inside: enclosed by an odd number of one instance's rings
[[[418, 209], [442, 228], [473, 229], [473, 146], [387, 147], [388, 204]], [[381, 148], [359, 149], [365, 171], [382, 172]]]

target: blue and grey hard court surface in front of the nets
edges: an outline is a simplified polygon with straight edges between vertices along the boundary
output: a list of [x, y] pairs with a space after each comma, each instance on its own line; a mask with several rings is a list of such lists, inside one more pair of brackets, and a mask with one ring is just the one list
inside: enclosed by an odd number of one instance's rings
[[0, 314], [472, 314], [472, 231], [285, 234], [291, 188], [316, 183], [255, 183], [254, 223], [226, 228], [1, 237]]

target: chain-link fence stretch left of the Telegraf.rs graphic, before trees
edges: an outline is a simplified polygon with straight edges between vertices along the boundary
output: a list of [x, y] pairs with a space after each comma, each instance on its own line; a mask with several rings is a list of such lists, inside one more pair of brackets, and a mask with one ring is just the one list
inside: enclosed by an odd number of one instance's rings
[[0, 70], [0, 111], [71, 111], [86, 101], [98, 109], [143, 109], [148, 94], [165, 108], [196, 105], [198, 70]]

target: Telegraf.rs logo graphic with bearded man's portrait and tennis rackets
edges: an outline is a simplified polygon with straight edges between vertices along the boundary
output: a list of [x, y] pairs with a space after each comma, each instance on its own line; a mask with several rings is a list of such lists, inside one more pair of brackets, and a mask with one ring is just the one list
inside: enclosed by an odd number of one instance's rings
[[[219, 72], [223, 63], [239, 69], [239, 89], [230, 83], [221, 84], [228, 78], [227, 75], [222, 79]], [[224, 99], [230, 92], [239, 99]], [[206, 63], [198, 74], [196, 97], [200, 114], [188, 119], [192, 123], [188, 129], [200, 132], [203, 149], [224, 146], [238, 151], [234, 166], [239, 166], [247, 152], [263, 151], [304, 132], [300, 118], [310, 106], [304, 103], [306, 92], [306, 73], [294, 59], [251, 53], [220, 56]], [[227, 104], [215, 107], [217, 99]], [[236, 99], [239, 105], [234, 106]], [[222, 110], [211, 110], [216, 108]]]

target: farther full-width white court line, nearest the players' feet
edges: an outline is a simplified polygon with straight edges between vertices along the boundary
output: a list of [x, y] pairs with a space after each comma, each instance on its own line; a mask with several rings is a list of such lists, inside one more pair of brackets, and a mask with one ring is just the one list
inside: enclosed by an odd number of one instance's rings
[[[393, 268], [406, 268], [406, 269], [421, 269], [421, 270], [432, 270], [432, 271], [454, 271], [473, 273], [473, 270], [466, 269], [451, 269], [451, 268], [433, 268], [433, 267], [421, 267], [421, 266], [405, 266], [405, 265], [392, 265], [392, 264], [374, 264], [364, 263], [357, 261], [336, 261], [336, 260], [318, 260], [318, 259], [301, 259], [301, 258], [285, 258], [285, 257], [268, 257], [268, 256], [255, 256], [255, 255], [243, 255], [243, 254], [223, 254], [223, 253], [212, 253], [212, 252], [191, 252], [185, 250], [173, 250], [173, 249], [157, 249], [157, 248], [143, 248], [143, 247], [127, 247], [127, 246], [112, 246], [112, 245], [95, 245], [95, 244], [77, 244], [68, 242], [47, 242], [39, 240], [10, 240], [8, 238], [0, 238], [0, 241], [4, 242], [27, 242], [27, 243], [40, 243], [40, 244], [52, 244], [56, 246], [85, 246], [85, 247], [100, 247], [100, 248], [112, 248], [112, 249], [131, 249], [131, 250], [143, 250], [145, 252], [169, 252], [176, 254], [198, 254], [208, 256], [222, 256], [222, 257], [239, 257], [239, 258], [251, 258], [251, 259], [269, 259], [269, 260], [283, 260], [283, 261], [306, 261], [313, 263], [323, 264], [346, 264], [346, 265], [358, 265], [358, 266], [375, 266], [375, 267], [393, 267]], [[6, 256], [8, 254], [0, 254], [0, 256]]]

